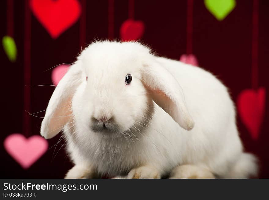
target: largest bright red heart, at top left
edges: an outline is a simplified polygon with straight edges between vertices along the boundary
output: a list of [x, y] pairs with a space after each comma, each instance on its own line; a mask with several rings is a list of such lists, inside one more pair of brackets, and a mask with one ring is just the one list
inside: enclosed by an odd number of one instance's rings
[[77, 0], [31, 0], [30, 7], [53, 39], [72, 26], [81, 13]]

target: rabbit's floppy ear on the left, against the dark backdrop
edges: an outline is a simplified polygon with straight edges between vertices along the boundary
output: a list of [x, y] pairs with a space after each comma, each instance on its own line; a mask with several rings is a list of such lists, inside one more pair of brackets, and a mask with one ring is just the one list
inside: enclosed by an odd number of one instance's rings
[[44, 138], [53, 138], [70, 120], [72, 116], [71, 99], [82, 82], [81, 76], [81, 63], [77, 61], [70, 66], [55, 88], [41, 124], [40, 133]]

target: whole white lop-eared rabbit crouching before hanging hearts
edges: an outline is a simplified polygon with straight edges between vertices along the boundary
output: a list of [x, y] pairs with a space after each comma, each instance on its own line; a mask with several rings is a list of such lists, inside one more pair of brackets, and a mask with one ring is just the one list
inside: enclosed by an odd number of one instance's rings
[[66, 178], [247, 178], [227, 88], [207, 71], [137, 42], [90, 44], [53, 92], [41, 135], [63, 130]]

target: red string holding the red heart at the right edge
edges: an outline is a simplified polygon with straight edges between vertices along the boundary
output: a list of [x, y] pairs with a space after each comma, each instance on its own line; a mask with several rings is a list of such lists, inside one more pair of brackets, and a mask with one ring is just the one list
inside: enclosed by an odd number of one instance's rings
[[258, 30], [259, 30], [259, 0], [253, 0], [252, 13], [252, 65], [251, 65], [251, 86], [258, 88]]

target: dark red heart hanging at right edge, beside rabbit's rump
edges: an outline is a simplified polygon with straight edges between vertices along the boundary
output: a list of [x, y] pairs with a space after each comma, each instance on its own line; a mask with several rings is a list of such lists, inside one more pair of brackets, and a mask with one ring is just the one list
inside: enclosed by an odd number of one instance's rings
[[242, 122], [252, 138], [257, 139], [265, 110], [265, 88], [243, 90], [238, 96], [237, 107]]

